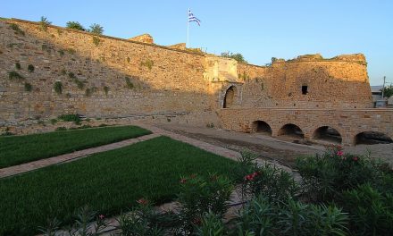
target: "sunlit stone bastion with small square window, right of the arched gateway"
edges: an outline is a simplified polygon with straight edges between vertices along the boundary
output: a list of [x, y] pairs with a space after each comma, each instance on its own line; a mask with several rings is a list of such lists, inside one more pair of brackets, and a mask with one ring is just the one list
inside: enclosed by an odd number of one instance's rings
[[364, 55], [299, 58], [266, 67], [240, 63], [238, 76], [244, 80], [243, 107], [372, 107]]

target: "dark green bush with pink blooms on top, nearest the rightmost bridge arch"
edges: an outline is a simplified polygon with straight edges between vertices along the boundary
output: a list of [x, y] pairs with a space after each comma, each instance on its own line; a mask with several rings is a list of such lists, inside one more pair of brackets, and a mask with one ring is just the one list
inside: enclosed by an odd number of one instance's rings
[[368, 181], [372, 186], [386, 186], [389, 180], [393, 183], [385, 164], [370, 156], [344, 154], [341, 147], [331, 147], [323, 155], [297, 158], [297, 169], [307, 198], [316, 202], [339, 199], [343, 191]]

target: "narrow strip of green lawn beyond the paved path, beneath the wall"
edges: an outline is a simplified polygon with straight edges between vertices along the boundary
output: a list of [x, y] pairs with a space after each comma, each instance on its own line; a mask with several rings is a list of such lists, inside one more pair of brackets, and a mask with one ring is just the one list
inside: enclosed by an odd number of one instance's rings
[[0, 137], [0, 168], [150, 134], [137, 126], [113, 126]]

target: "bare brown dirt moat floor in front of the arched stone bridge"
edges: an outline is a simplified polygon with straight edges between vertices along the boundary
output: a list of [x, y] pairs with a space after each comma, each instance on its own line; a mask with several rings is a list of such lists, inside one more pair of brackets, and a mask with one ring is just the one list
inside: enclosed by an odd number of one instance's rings
[[[171, 123], [157, 126], [166, 131], [179, 133], [189, 138], [199, 139], [234, 151], [241, 151], [247, 148], [263, 159], [273, 160], [288, 167], [294, 167], [297, 156], [314, 155], [316, 153], [323, 153], [325, 150], [325, 147], [322, 145], [294, 143], [293, 141], [297, 139], [292, 137], [280, 137], [280, 139], [276, 139], [263, 133], [250, 134]], [[372, 157], [382, 158], [393, 166], [393, 143], [344, 147], [344, 151], [358, 155], [364, 155], [368, 150], [371, 152]]]

